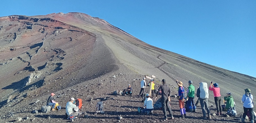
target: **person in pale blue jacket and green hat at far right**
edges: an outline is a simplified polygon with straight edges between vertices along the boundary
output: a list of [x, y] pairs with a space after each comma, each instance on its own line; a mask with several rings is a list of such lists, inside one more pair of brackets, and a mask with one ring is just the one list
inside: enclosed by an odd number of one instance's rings
[[254, 123], [253, 96], [251, 95], [251, 90], [249, 88], [244, 89], [244, 91], [245, 94], [242, 97], [242, 103], [244, 103], [244, 114], [242, 116], [242, 122], [244, 122], [244, 119], [249, 112], [251, 116], [251, 123]]

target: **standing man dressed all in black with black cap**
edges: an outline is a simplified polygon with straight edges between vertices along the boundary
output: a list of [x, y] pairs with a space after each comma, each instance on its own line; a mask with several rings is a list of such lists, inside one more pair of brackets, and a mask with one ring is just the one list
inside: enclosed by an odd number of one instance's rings
[[[166, 109], [169, 112], [171, 119], [174, 119], [174, 117], [172, 116], [172, 110], [170, 108], [171, 89], [166, 85], [166, 80], [165, 79], [162, 80], [162, 83], [163, 83], [163, 85], [161, 85], [159, 87], [158, 92], [161, 91], [161, 94], [162, 94], [161, 103], [162, 103], [163, 115], [164, 115], [163, 119], [168, 120]], [[156, 98], [157, 98], [158, 92], [156, 94]], [[155, 101], [156, 101], [156, 98], [155, 98]]]

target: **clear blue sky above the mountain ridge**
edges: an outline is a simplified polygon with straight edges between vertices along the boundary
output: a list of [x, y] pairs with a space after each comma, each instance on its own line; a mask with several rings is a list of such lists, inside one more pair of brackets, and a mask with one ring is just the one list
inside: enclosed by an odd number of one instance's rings
[[1, 1], [0, 17], [81, 12], [195, 60], [256, 77], [255, 0]]

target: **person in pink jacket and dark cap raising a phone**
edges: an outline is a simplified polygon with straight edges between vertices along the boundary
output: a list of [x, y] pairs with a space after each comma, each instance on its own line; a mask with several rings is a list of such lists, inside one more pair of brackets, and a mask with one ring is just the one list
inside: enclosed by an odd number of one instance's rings
[[[212, 82], [211, 82], [211, 84], [209, 86], [209, 90], [213, 91], [214, 101], [215, 101], [215, 105], [217, 108], [216, 115], [222, 115], [222, 106], [221, 106], [222, 98], [221, 98], [221, 94], [220, 94], [219, 84], [218, 83], [212, 84]], [[225, 100], [225, 97], [224, 97], [224, 100]]]

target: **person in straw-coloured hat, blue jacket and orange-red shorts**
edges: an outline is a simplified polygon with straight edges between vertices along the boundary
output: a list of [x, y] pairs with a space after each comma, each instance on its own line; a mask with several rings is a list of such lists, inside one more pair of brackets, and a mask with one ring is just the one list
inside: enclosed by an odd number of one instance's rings
[[179, 110], [180, 110], [180, 114], [181, 114], [181, 118], [185, 118], [186, 117], [186, 110], [184, 108], [184, 102], [185, 102], [185, 90], [183, 87], [183, 83], [181, 81], [176, 81], [177, 85], [179, 86], [179, 90], [178, 90], [178, 97], [179, 97]]

